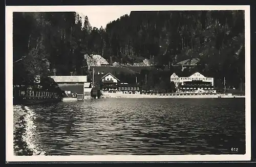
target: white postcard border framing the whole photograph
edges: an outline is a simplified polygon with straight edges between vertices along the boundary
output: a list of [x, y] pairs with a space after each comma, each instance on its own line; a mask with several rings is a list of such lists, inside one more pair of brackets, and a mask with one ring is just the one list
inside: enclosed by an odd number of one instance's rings
[[[245, 95], [246, 154], [244, 155], [93, 155], [93, 156], [15, 156], [13, 152], [13, 43], [12, 12], [77, 11], [87, 8], [101, 10], [245, 10]], [[250, 96], [250, 6], [6, 6], [6, 161], [245, 161], [251, 158], [251, 96]], [[233, 146], [236, 147], [236, 146]]]

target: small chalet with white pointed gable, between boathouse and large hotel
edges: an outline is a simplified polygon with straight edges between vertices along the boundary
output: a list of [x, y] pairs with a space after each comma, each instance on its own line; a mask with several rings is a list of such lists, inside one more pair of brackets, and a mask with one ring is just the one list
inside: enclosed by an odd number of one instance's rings
[[117, 91], [118, 82], [120, 80], [116, 78], [113, 74], [108, 73], [101, 77], [101, 89], [104, 91]]

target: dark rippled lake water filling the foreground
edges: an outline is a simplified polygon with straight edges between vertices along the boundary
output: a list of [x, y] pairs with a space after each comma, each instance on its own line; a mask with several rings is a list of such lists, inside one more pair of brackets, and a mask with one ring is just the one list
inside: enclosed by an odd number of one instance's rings
[[245, 99], [88, 99], [29, 108], [34, 141], [48, 155], [245, 153]]

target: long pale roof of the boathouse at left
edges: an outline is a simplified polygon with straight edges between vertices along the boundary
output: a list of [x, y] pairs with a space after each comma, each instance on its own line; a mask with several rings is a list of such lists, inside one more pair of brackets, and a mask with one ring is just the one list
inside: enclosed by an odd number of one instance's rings
[[55, 82], [87, 82], [87, 76], [50, 76]]

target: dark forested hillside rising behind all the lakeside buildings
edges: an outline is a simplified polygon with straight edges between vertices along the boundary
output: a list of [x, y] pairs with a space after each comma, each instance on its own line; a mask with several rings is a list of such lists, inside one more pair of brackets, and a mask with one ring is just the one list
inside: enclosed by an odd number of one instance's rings
[[[122, 64], [199, 58], [199, 65], [184, 74], [198, 70], [236, 87], [244, 82], [243, 11], [135, 11], [105, 29], [84, 20], [75, 12], [14, 12], [14, 83], [33, 84], [36, 75], [47, 76], [46, 60], [57, 75], [88, 74], [86, 54]], [[168, 75], [173, 71], [171, 66]], [[163, 77], [156, 75], [155, 84]]]

